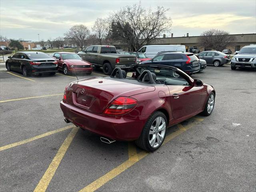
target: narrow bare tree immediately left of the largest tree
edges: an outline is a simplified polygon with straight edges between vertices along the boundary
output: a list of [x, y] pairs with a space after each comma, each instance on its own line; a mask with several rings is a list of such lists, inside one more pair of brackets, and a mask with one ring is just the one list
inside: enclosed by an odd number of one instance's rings
[[96, 37], [101, 45], [102, 40], [106, 37], [108, 33], [108, 24], [104, 19], [97, 18], [97, 20], [94, 23], [94, 26], [92, 27], [92, 31], [96, 34]]

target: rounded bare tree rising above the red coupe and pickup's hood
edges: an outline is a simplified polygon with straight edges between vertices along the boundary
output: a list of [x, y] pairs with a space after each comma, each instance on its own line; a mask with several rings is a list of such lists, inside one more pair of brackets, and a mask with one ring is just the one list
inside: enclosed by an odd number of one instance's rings
[[66, 38], [71, 39], [72, 42], [75, 42], [78, 48], [80, 47], [82, 50], [85, 45], [86, 38], [90, 35], [90, 30], [82, 24], [74, 25], [64, 35]]

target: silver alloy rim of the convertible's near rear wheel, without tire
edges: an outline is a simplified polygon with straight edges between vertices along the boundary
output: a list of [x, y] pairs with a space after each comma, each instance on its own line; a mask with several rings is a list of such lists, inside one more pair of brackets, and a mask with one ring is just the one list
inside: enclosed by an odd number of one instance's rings
[[163, 142], [165, 132], [166, 132], [166, 122], [164, 118], [161, 116], [157, 117], [153, 121], [149, 131], [148, 141], [152, 148], [157, 148]]

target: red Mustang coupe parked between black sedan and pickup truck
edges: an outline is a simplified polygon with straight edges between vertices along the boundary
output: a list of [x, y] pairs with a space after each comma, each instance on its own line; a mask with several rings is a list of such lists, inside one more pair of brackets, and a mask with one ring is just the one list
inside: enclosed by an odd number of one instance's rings
[[76, 53], [70, 52], [55, 52], [50, 54], [58, 62], [58, 70], [63, 71], [65, 75], [71, 72], [86, 72], [86, 74], [92, 73], [92, 64], [86, 62], [80, 58]]

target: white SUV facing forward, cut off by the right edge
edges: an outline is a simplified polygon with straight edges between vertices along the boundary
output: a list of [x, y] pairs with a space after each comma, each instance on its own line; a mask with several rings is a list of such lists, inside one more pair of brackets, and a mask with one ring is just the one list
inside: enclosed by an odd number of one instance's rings
[[231, 60], [231, 69], [253, 68], [256, 70], [256, 44], [242, 47]]

